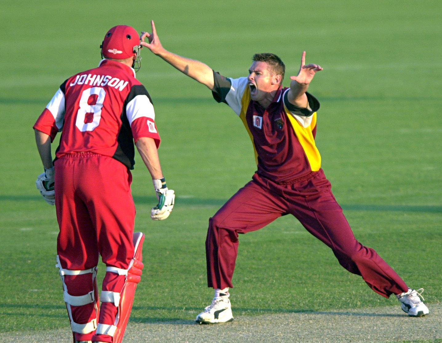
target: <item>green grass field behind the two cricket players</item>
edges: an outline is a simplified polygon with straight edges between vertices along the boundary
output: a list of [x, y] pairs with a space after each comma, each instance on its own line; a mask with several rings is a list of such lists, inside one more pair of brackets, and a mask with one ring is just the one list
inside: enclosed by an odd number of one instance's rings
[[[0, 333], [69, 325], [54, 267], [55, 208], [34, 184], [42, 165], [32, 126], [67, 77], [98, 64], [110, 27], [150, 31], [151, 19], [167, 49], [226, 76], [246, 76], [255, 52], [285, 61], [285, 85], [303, 50], [307, 63], [323, 66], [310, 91], [321, 102], [316, 144], [334, 194], [358, 240], [409, 286], [425, 288], [430, 309], [440, 303], [439, 1], [0, 4]], [[208, 218], [256, 166], [248, 134], [227, 106], [149, 50], [142, 57], [137, 78], [152, 96], [164, 175], [177, 195], [171, 216], [151, 221], [156, 198], [136, 157], [136, 230], [146, 242], [131, 320], [191, 321], [213, 296], [206, 287]], [[240, 237], [233, 282], [237, 318], [398, 306], [343, 270], [290, 216]]]

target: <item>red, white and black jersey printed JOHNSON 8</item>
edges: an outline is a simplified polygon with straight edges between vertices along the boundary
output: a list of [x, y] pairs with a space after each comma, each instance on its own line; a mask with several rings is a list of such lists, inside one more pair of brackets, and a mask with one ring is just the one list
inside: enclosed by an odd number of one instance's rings
[[132, 68], [106, 59], [63, 82], [34, 129], [49, 134], [51, 142], [62, 131], [57, 157], [95, 152], [130, 169], [135, 163], [133, 141], [152, 137], [160, 145], [149, 93]]

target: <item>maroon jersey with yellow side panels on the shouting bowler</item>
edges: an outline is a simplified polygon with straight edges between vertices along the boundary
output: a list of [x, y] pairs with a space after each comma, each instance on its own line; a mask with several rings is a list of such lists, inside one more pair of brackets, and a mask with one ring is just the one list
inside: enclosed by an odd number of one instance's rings
[[255, 149], [257, 173], [277, 183], [291, 183], [318, 171], [321, 157], [315, 145], [318, 100], [306, 93], [311, 111], [291, 104], [289, 88], [279, 88], [263, 108], [250, 98], [247, 77], [227, 79], [213, 72], [213, 97], [241, 118]]

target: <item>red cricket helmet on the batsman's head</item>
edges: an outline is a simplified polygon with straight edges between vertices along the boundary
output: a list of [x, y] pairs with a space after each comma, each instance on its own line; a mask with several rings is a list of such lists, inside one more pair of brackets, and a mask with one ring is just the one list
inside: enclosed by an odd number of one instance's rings
[[104, 36], [101, 53], [104, 57], [122, 60], [137, 56], [140, 36], [137, 30], [127, 25], [112, 27]]

